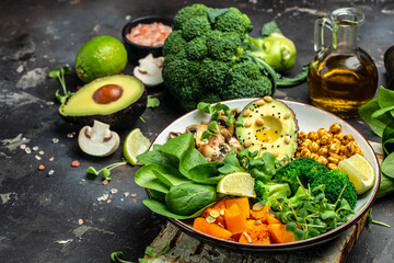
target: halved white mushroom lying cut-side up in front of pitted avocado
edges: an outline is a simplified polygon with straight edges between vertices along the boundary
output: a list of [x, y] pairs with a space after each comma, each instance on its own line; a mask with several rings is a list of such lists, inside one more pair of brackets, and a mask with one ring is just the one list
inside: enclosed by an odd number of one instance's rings
[[84, 126], [78, 136], [78, 144], [82, 151], [96, 157], [114, 153], [119, 147], [120, 138], [109, 130], [109, 125], [94, 121], [93, 127]]

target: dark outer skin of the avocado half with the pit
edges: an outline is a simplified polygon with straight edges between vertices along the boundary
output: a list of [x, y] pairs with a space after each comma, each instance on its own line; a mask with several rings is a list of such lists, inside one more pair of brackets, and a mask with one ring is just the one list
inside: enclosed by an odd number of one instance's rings
[[85, 125], [93, 125], [93, 121], [96, 119], [102, 123], [106, 123], [111, 125], [112, 129], [125, 129], [131, 126], [146, 111], [147, 108], [147, 89], [142, 84], [142, 93], [132, 104], [124, 107], [115, 113], [111, 114], [95, 114], [95, 115], [63, 115], [61, 111], [59, 111], [60, 116], [69, 123], [85, 126]]

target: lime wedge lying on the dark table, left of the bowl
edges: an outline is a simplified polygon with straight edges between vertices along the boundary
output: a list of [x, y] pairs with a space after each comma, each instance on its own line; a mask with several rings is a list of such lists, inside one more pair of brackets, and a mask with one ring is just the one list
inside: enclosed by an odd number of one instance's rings
[[124, 158], [132, 165], [137, 163], [137, 157], [148, 150], [150, 141], [139, 128], [131, 130], [124, 144]]

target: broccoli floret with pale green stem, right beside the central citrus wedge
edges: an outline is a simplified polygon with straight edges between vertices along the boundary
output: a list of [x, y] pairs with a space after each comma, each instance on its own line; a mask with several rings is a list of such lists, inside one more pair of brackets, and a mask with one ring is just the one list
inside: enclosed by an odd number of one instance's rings
[[289, 184], [287, 183], [263, 183], [259, 180], [255, 181], [254, 190], [256, 198], [265, 205], [275, 206], [277, 199], [287, 197], [291, 194]]

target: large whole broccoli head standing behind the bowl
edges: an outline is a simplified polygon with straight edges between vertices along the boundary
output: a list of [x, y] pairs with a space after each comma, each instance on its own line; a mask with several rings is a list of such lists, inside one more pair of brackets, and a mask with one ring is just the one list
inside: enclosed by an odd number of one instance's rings
[[193, 4], [179, 10], [163, 46], [163, 80], [186, 111], [202, 100], [274, 94], [276, 73], [252, 59], [245, 62], [244, 42], [251, 31], [250, 19], [235, 8]]

